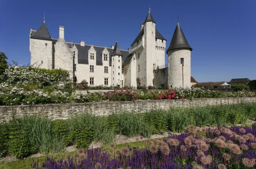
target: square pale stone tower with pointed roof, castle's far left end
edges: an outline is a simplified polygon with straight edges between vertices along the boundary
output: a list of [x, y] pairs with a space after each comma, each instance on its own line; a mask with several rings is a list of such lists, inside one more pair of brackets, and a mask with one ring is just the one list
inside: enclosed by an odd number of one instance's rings
[[39, 66], [42, 68], [53, 68], [53, 42], [49, 31], [46, 27], [45, 20], [37, 31], [30, 28], [30, 52], [31, 52], [31, 65]]

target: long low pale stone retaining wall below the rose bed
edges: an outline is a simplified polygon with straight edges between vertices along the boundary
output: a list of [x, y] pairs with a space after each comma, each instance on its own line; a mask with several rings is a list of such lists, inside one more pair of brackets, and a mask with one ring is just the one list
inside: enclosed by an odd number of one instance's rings
[[92, 113], [96, 116], [108, 116], [112, 113], [143, 113], [151, 110], [170, 109], [174, 107], [195, 107], [206, 105], [239, 104], [256, 102], [256, 97], [204, 98], [179, 100], [143, 100], [128, 102], [97, 102], [42, 105], [8, 105], [0, 106], [0, 122], [24, 115], [38, 115], [52, 119], [67, 119], [73, 115]]

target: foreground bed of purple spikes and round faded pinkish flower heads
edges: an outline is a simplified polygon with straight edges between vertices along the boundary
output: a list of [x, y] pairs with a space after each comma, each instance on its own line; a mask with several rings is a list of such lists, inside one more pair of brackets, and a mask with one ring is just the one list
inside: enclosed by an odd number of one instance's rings
[[[256, 123], [253, 127], [188, 126], [188, 132], [150, 141], [144, 149], [123, 147], [114, 156], [100, 148], [81, 150], [74, 157], [47, 157], [33, 169], [250, 169], [256, 167]], [[200, 135], [205, 135], [202, 137]], [[113, 151], [112, 151], [113, 153]]]

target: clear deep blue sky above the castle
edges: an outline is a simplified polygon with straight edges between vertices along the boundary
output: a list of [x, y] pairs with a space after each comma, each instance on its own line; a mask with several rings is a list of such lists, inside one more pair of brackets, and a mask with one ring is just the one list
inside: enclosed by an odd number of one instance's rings
[[197, 81], [256, 79], [256, 0], [0, 0], [0, 51], [27, 65], [29, 29], [41, 26], [43, 13], [52, 38], [65, 26], [66, 41], [110, 47], [118, 38], [128, 49], [149, 4], [166, 48], [180, 16]]

